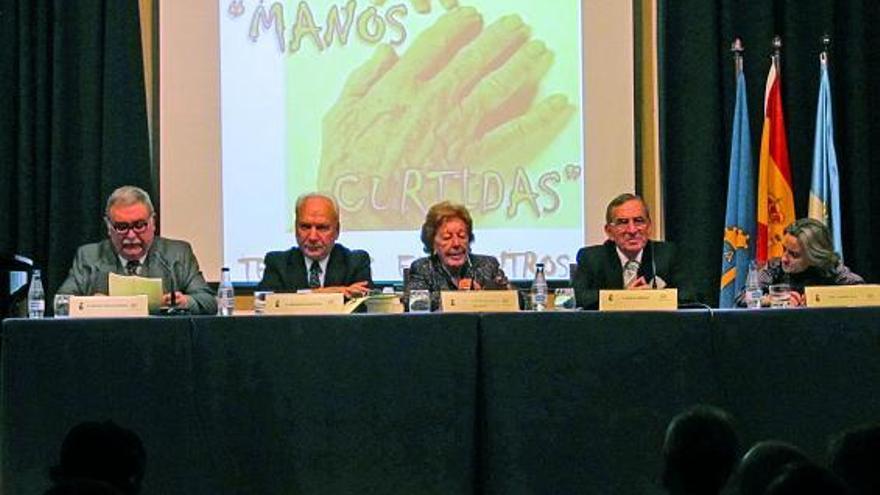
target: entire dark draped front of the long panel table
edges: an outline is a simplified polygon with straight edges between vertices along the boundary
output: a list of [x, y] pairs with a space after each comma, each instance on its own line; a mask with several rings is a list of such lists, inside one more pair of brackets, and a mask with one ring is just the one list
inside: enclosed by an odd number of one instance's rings
[[113, 419], [146, 494], [661, 493], [669, 419], [744, 443], [880, 419], [880, 309], [7, 320], [2, 493]]

